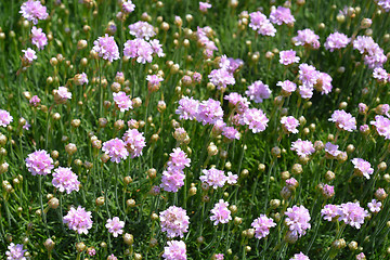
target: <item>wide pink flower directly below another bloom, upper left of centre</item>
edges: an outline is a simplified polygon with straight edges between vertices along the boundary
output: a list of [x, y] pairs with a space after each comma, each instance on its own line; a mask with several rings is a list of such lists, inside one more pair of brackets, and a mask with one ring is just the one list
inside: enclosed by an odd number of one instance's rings
[[153, 53], [155, 53], [155, 50], [152, 48], [151, 43], [144, 39], [138, 38], [125, 42], [123, 55], [136, 58], [138, 63], [151, 63], [153, 61]]

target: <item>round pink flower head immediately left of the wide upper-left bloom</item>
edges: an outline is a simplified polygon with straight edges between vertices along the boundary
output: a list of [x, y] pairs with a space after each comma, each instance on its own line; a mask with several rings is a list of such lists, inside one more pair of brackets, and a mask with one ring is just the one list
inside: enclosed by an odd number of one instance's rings
[[119, 58], [119, 49], [114, 40], [114, 36], [105, 34], [104, 37], [99, 37], [98, 40], [93, 41], [93, 51], [98, 53], [100, 57], [113, 62]]

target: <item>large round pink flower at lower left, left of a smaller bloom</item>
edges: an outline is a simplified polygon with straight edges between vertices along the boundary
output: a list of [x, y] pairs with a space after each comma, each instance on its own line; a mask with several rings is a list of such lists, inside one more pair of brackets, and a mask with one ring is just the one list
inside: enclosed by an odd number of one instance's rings
[[70, 230], [77, 231], [77, 233], [86, 235], [88, 230], [92, 227], [92, 213], [86, 211], [84, 208], [78, 206], [77, 209], [70, 208], [68, 213], [64, 217], [64, 224], [67, 224]]

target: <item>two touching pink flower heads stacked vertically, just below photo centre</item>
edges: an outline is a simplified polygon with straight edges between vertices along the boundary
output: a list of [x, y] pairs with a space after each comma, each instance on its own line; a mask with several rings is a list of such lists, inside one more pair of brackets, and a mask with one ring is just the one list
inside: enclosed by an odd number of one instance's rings
[[184, 168], [190, 167], [191, 159], [180, 148], [173, 148], [173, 153], [170, 154], [168, 168], [162, 172], [161, 187], [167, 192], [178, 192], [180, 187], [184, 185]]

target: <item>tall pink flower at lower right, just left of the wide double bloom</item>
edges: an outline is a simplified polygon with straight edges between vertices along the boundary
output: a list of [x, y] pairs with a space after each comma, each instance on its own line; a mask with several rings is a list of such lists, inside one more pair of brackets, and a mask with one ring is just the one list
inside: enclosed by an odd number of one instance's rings
[[285, 214], [287, 216], [285, 223], [292, 234], [300, 237], [311, 227], [309, 210], [303, 206], [288, 208]]

